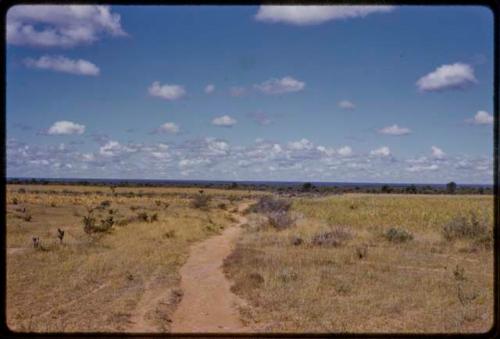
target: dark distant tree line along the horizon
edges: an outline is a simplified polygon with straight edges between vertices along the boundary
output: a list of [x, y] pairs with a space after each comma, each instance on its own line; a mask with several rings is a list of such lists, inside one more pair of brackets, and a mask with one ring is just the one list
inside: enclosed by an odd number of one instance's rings
[[108, 186], [114, 187], [199, 187], [240, 189], [249, 191], [272, 191], [282, 194], [342, 194], [342, 193], [383, 193], [383, 194], [493, 194], [492, 186], [460, 186], [449, 182], [442, 186], [432, 185], [357, 185], [346, 184], [337, 186], [314, 185], [310, 182], [285, 185], [282, 183], [248, 183], [248, 182], [138, 182], [138, 181], [88, 181], [88, 180], [48, 180], [48, 179], [7, 179], [8, 184], [20, 185], [77, 185], [77, 186]]

